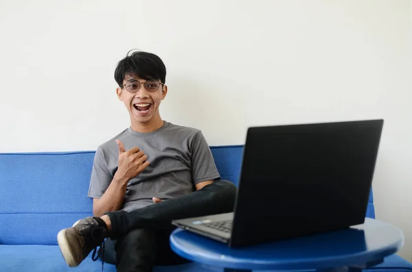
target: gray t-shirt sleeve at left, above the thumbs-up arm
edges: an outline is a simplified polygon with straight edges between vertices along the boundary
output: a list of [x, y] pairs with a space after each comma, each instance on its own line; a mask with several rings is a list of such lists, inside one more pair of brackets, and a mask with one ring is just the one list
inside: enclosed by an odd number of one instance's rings
[[102, 149], [98, 148], [93, 160], [88, 197], [100, 198], [113, 180], [113, 176], [108, 171]]

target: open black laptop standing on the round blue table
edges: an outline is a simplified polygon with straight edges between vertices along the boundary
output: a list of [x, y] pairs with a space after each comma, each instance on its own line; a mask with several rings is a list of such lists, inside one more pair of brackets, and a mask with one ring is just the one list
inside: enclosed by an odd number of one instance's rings
[[229, 247], [365, 222], [383, 120], [249, 127], [233, 212], [172, 221]]

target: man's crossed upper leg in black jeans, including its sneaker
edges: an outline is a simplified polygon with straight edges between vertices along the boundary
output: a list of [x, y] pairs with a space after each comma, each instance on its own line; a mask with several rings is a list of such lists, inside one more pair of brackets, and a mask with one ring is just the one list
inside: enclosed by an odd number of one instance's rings
[[76, 267], [104, 238], [122, 237], [134, 229], [169, 229], [171, 221], [187, 217], [232, 212], [236, 186], [218, 180], [190, 195], [168, 199], [133, 212], [108, 212], [103, 217], [87, 217], [73, 227], [60, 230], [58, 245], [65, 261]]

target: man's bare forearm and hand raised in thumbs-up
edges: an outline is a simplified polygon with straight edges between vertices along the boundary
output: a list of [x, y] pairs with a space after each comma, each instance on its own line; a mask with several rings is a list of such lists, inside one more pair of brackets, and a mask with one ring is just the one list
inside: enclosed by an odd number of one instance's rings
[[122, 142], [119, 140], [116, 142], [119, 146], [119, 167], [102, 197], [93, 198], [95, 217], [101, 217], [105, 212], [113, 212], [122, 208], [128, 181], [137, 177], [149, 165], [146, 161], [148, 156], [144, 155], [139, 148], [134, 147], [126, 151]]

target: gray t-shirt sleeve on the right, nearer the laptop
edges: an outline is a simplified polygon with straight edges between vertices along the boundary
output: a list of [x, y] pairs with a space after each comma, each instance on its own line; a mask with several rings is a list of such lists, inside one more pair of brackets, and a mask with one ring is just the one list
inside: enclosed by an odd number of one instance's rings
[[191, 144], [192, 180], [194, 184], [220, 178], [209, 145], [202, 132], [197, 132]]

